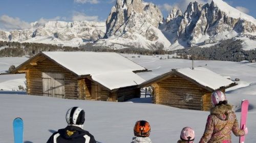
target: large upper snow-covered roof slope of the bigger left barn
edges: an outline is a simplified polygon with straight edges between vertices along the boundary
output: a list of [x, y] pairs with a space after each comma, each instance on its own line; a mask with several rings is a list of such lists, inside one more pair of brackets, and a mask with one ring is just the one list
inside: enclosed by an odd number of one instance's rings
[[115, 52], [42, 52], [61, 66], [80, 75], [97, 75], [113, 71], [145, 70]]

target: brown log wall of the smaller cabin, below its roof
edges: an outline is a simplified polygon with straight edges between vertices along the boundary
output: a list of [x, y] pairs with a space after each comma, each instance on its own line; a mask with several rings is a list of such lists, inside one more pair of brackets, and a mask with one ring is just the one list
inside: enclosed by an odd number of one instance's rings
[[[209, 93], [197, 84], [178, 75], [172, 75], [152, 84], [152, 86], [154, 88], [154, 103], [185, 109], [202, 110], [202, 96]], [[208, 106], [210, 102], [205, 102], [205, 104]]]

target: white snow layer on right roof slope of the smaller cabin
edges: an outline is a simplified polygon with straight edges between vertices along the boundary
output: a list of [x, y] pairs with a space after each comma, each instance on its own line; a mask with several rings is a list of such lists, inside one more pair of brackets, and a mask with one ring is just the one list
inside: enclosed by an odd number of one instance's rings
[[195, 67], [194, 69], [176, 69], [176, 71], [212, 90], [228, 87], [230, 84], [234, 83], [233, 81], [203, 67]]

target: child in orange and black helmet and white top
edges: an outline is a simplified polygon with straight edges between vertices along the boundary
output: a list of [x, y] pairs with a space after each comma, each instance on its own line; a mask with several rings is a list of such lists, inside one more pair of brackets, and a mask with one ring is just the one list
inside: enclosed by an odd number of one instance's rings
[[132, 143], [152, 143], [150, 137], [150, 123], [144, 120], [137, 121], [134, 126], [134, 135]]

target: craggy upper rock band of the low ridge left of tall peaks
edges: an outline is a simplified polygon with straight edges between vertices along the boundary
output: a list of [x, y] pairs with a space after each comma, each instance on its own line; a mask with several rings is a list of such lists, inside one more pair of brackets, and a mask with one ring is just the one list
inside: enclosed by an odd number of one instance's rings
[[83, 41], [95, 41], [103, 38], [105, 34], [105, 23], [103, 22], [49, 21], [43, 25], [36, 22], [31, 23], [31, 25], [31, 28], [19, 31], [14, 30], [10, 32], [9, 36], [3, 37], [5, 37], [5, 40], [12, 41], [24, 41], [38, 36], [55, 37], [62, 41], [69, 41], [74, 38], [81, 38]]

